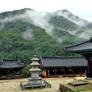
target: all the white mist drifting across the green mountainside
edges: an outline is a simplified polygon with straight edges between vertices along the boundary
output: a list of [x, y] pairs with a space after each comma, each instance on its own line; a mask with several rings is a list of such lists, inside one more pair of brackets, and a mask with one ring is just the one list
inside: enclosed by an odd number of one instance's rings
[[[83, 19], [79, 19], [76, 18], [75, 16], [70, 16], [70, 14], [68, 12], [36, 12], [36, 11], [32, 11], [32, 10], [28, 10], [26, 11], [24, 14], [20, 14], [20, 15], [15, 15], [15, 16], [10, 16], [10, 17], [6, 17], [4, 19], [0, 19], [0, 30], [2, 30], [4, 28], [4, 24], [6, 22], [12, 22], [14, 20], [17, 19], [22, 19], [25, 22], [31, 23], [35, 26], [38, 26], [42, 29], [44, 29], [44, 31], [52, 36], [54, 39], [56, 39], [59, 43], [62, 43], [64, 39], [66, 39], [66, 37], [58, 37], [54, 31], [55, 28], [53, 26], [53, 24], [49, 23], [50, 18], [54, 15], [58, 15], [58, 16], [64, 16], [65, 18], [67, 18], [68, 20], [72, 21], [73, 23], [79, 25], [80, 27], [77, 29], [73, 29], [73, 30], [65, 30], [63, 28], [57, 28], [61, 31], [67, 31], [69, 34], [74, 35], [78, 38], [83, 38], [83, 39], [89, 39], [92, 36], [92, 31], [90, 30], [86, 30], [84, 29], [83, 31], [81, 31], [81, 26], [85, 26], [88, 24], [88, 22], [86, 22]], [[25, 32], [23, 32], [23, 36], [25, 39], [29, 40], [33, 37], [32, 34], [33, 30], [32, 28], [27, 28], [27, 30], [25, 30]], [[67, 38], [68, 39], [68, 38]]]

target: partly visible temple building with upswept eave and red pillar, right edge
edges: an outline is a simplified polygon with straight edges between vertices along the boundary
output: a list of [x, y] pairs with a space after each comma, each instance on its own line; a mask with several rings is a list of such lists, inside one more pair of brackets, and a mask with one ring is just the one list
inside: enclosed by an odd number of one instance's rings
[[84, 56], [88, 63], [88, 69], [86, 70], [87, 77], [92, 77], [92, 38], [86, 42], [66, 47], [65, 50], [68, 52], [79, 53]]

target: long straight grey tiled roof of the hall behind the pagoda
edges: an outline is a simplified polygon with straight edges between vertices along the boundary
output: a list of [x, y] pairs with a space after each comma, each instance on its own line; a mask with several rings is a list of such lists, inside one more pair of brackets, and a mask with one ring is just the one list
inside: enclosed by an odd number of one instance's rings
[[43, 67], [87, 67], [83, 57], [41, 57]]

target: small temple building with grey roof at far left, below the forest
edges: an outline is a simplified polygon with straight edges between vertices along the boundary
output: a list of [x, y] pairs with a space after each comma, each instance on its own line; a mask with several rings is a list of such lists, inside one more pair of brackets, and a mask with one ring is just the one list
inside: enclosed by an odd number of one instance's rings
[[20, 59], [8, 60], [3, 59], [0, 62], [0, 79], [14, 79], [21, 78], [22, 74], [19, 72], [20, 69], [25, 67], [24, 63], [20, 62]]

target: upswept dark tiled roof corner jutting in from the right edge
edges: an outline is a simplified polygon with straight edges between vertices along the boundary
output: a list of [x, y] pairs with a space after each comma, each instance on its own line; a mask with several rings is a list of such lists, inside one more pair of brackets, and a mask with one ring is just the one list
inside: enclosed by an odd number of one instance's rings
[[77, 44], [77, 45], [73, 45], [70, 47], [66, 47], [65, 51], [69, 51], [69, 52], [92, 52], [92, 38], [86, 42]]

